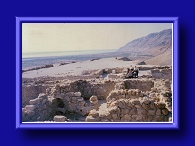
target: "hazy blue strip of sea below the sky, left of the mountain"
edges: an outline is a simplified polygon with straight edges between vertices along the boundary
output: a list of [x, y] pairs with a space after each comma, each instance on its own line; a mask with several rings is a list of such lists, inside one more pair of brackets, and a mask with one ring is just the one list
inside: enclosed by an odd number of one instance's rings
[[63, 62], [78, 62], [96, 58], [111, 57], [117, 49], [107, 50], [74, 50], [39, 53], [22, 53], [22, 69], [29, 69], [47, 64], [59, 64]]

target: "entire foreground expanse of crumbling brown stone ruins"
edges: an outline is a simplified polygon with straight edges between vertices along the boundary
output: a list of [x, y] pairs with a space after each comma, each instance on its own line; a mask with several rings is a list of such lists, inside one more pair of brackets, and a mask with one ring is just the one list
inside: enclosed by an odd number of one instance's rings
[[[150, 71], [153, 73], [151, 78], [73, 80], [44, 86], [47, 87], [45, 93], [40, 93], [37, 98], [31, 98], [29, 103], [23, 104], [22, 121], [172, 121], [170, 69]], [[113, 75], [116, 73], [112, 70], [110, 72]], [[166, 76], [167, 79], [160, 76]], [[26, 94], [25, 89], [28, 88], [23, 88]], [[98, 105], [101, 100], [106, 104], [103, 111]], [[75, 120], [74, 117], [77, 116], [79, 118]]]

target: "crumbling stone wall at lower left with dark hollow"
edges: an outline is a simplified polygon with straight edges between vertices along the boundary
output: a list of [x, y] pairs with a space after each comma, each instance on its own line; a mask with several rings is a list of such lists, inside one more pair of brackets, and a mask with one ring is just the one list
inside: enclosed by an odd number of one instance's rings
[[80, 92], [67, 92], [60, 95], [57, 92], [53, 93], [53, 96], [42, 93], [37, 98], [31, 99], [30, 105], [22, 108], [23, 122], [53, 120], [55, 115], [65, 115], [67, 112], [83, 116], [90, 112], [91, 107], [81, 97]]

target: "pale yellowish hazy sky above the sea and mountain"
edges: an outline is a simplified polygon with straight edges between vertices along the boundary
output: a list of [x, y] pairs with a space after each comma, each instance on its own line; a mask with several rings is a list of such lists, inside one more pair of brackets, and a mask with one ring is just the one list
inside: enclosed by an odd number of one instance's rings
[[23, 23], [22, 52], [118, 49], [172, 23]]

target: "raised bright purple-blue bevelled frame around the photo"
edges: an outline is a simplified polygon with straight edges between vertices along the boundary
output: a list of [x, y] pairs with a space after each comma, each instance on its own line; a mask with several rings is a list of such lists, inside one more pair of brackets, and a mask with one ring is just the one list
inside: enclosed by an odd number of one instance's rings
[[[22, 123], [22, 23], [173, 23], [173, 123]], [[16, 129], [175, 129], [179, 130], [178, 17], [16, 17]]]

